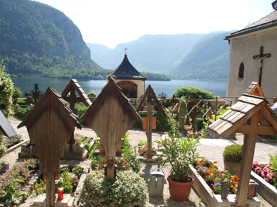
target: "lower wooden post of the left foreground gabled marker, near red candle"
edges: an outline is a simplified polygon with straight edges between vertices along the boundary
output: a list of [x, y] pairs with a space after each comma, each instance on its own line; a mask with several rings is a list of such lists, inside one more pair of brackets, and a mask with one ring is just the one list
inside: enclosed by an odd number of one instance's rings
[[55, 172], [46, 172], [46, 207], [55, 206]]

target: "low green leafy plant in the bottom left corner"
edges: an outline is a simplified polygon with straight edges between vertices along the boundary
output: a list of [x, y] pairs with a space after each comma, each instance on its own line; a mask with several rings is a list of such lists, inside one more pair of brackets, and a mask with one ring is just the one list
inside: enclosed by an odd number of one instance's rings
[[21, 195], [26, 195], [26, 192], [20, 192], [20, 188], [16, 188], [15, 186], [18, 185], [17, 182], [23, 182], [25, 183], [24, 180], [22, 179], [13, 179], [8, 188], [5, 191], [1, 191], [1, 197], [6, 198], [6, 205], [10, 206], [14, 202], [14, 198], [18, 198]]

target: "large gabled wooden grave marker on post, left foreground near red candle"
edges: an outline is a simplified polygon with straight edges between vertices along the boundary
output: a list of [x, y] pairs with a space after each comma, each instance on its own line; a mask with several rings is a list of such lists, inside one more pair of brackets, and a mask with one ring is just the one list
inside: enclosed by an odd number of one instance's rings
[[46, 172], [46, 206], [54, 207], [55, 172], [60, 169], [63, 148], [74, 127], [82, 125], [67, 107], [67, 102], [53, 88], [48, 88], [18, 128], [26, 126], [30, 140], [36, 145], [39, 169]]

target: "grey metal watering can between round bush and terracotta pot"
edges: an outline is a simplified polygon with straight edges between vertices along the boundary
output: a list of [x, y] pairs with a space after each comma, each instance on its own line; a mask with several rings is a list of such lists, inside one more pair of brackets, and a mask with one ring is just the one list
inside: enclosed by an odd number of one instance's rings
[[164, 172], [153, 172], [155, 169], [162, 170], [161, 168], [154, 168], [150, 172], [149, 195], [159, 198], [163, 196]]

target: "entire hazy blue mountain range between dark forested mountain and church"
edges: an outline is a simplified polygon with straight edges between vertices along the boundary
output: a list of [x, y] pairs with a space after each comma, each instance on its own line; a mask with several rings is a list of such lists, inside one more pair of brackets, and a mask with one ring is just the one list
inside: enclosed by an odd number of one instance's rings
[[229, 44], [226, 31], [208, 34], [144, 35], [118, 44], [114, 49], [89, 44], [91, 58], [114, 70], [122, 61], [124, 48], [138, 70], [155, 72], [173, 79], [227, 80]]

